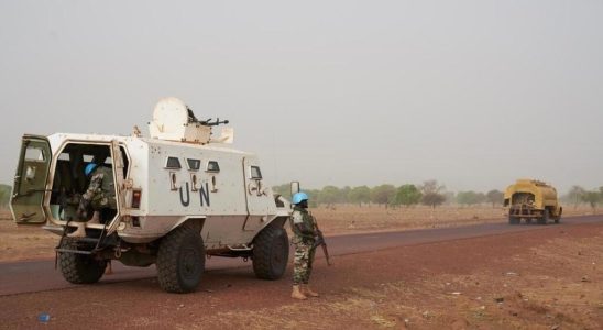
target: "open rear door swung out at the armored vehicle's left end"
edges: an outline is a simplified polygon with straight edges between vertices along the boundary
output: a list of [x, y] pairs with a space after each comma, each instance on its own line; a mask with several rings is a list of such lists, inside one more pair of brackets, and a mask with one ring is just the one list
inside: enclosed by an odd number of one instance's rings
[[44, 196], [51, 161], [51, 144], [46, 136], [23, 135], [11, 195], [11, 212], [14, 222], [20, 224], [46, 222]]

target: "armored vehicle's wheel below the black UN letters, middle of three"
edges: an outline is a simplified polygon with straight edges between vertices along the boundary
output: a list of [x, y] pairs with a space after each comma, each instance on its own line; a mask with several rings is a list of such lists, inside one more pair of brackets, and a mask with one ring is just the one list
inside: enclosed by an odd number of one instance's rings
[[160, 286], [176, 294], [190, 293], [199, 286], [205, 268], [205, 246], [200, 234], [179, 227], [162, 239], [157, 252]]

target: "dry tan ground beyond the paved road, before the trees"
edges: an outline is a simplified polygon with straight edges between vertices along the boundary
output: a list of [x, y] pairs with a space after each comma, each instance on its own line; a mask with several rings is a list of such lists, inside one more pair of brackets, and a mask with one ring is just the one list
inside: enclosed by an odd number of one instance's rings
[[[442, 206], [384, 208], [338, 205], [311, 209], [326, 235], [439, 228], [506, 221], [501, 207]], [[564, 210], [567, 216], [592, 215], [590, 208]], [[58, 237], [36, 226], [17, 227], [8, 210], [0, 209], [0, 262], [54, 257]]]

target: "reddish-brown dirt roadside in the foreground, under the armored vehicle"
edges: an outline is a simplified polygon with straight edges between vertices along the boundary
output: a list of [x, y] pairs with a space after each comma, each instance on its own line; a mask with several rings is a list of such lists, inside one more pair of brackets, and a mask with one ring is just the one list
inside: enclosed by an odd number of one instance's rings
[[[318, 258], [322, 296], [293, 301], [285, 278], [207, 272], [197, 293], [154, 278], [0, 297], [0, 328], [602, 329], [603, 223]], [[51, 320], [40, 323], [47, 312]]]

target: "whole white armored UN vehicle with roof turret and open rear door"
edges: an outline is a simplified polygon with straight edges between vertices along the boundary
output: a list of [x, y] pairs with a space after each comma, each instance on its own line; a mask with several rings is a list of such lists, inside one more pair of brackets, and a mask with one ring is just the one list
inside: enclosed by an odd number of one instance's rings
[[[43, 224], [61, 237], [56, 252], [63, 276], [96, 283], [107, 262], [156, 264], [163, 289], [195, 290], [207, 255], [253, 261], [255, 275], [285, 272], [290, 205], [262, 177], [254, 154], [231, 148], [228, 123], [199, 121], [178, 99], [155, 107], [150, 138], [56, 133], [24, 135], [11, 211], [20, 224]], [[138, 130], [136, 130], [138, 131]], [[116, 207], [76, 212], [89, 185], [89, 163], [112, 172]], [[100, 215], [98, 215], [100, 213]], [[76, 232], [78, 234], [76, 234]]]

